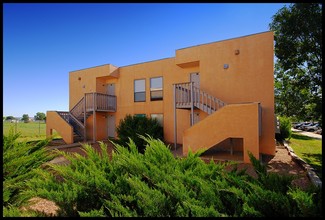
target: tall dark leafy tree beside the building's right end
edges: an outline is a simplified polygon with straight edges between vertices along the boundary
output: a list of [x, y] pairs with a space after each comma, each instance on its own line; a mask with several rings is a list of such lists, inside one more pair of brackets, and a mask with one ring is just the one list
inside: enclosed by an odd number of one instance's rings
[[281, 8], [270, 23], [275, 40], [279, 115], [322, 123], [322, 4]]

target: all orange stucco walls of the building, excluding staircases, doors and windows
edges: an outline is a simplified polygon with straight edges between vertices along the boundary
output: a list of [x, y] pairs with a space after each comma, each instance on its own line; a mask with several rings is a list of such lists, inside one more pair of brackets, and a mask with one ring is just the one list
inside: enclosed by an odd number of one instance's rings
[[[88, 92], [106, 93], [115, 84], [117, 111], [97, 113], [96, 139], [107, 138], [107, 115], [115, 116], [115, 126], [126, 114], [163, 114], [164, 138], [174, 142], [173, 84], [189, 82], [190, 73], [199, 72], [200, 89], [228, 104], [258, 102], [262, 107], [260, 153], [275, 153], [273, 32], [223, 40], [176, 50], [175, 57], [115, 67], [103, 65], [70, 72], [69, 109]], [[227, 64], [228, 68], [224, 68]], [[150, 101], [150, 78], [163, 77], [163, 100]], [[146, 101], [134, 102], [134, 80], [145, 79]], [[211, 117], [201, 110], [200, 121]], [[230, 120], [230, 119], [229, 119]], [[93, 119], [87, 120], [87, 138], [92, 139]], [[177, 109], [177, 143], [182, 144], [190, 128], [190, 111]], [[227, 128], [231, 129], [231, 128]], [[201, 134], [205, 130], [200, 131]], [[252, 134], [255, 137], [255, 134]], [[247, 139], [247, 138], [246, 138]]]

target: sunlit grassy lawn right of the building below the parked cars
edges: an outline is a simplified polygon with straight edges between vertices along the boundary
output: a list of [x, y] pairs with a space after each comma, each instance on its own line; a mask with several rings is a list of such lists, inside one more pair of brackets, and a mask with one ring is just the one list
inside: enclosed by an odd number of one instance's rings
[[315, 169], [322, 180], [322, 140], [292, 133], [289, 141], [295, 154]]

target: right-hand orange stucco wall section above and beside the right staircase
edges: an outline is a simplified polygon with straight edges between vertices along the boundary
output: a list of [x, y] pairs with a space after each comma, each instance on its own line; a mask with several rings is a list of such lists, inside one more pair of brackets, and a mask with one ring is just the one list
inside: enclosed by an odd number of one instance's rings
[[273, 50], [273, 32], [265, 32], [176, 51], [178, 63], [200, 60], [202, 90], [226, 103], [261, 103], [260, 150], [271, 155], [275, 154]]

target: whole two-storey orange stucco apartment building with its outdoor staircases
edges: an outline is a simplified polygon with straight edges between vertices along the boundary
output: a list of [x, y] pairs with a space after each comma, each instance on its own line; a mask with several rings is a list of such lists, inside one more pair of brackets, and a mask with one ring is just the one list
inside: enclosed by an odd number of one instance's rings
[[[157, 118], [183, 155], [275, 154], [273, 32], [176, 50], [175, 57], [69, 74], [69, 112], [48, 111], [46, 132], [67, 143], [116, 137], [127, 114]], [[79, 137], [79, 139], [76, 139]], [[81, 138], [81, 139], [80, 139]]]

